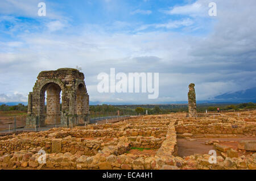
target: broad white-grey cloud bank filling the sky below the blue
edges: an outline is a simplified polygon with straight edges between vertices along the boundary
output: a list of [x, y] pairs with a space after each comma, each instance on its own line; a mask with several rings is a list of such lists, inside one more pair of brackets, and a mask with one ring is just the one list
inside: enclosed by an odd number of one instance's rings
[[[42, 70], [75, 68], [76, 65], [85, 74], [92, 101], [156, 103], [187, 100], [191, 82], [196, 84], [197, 100], [249, 89], [256, 83], [256, 24], [252, 23], [256, 12], [251, 11], [256, 2], [216, 3], [214, 27], [202, 34], [176, 30], [195, 27], [198, 19], [189, 14], [189, 17], [151, 24], [114, 20], [109, 24], [72, 26], [63, 20], [51, 20], [15, 31], [14, 38], [0, 41], [3, 47], [0, 50], [1, 100], [18, 100], [13, 91], [27, 95]], [[190, 11], [197, 14], [196, 10]], [[180, 9], [172, 11], [178, 12], [185, 15]], [[11, 30], [22, 27], [24, 22], [21, 23], [14, 20]], [[42, 28], [42, 24], [46, 26]], [[135, 30], [137, 25], [141, 25], [141, 31]], [[204, 21], [201, 25], [208, 26]], [[10, 32], [2, 27], [0, 30]], [[159, 99], [148, 100], [147, 94], [98, 93], [97, 74], [109, 73], [110, 68], [115, 68], [117, 73], [159, 72]]]

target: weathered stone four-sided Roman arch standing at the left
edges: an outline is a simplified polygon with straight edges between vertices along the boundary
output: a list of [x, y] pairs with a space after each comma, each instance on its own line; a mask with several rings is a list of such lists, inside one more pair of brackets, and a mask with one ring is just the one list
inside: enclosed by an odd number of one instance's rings
[[83, 73], [71, 68], [39, 73], [33, 91], [28, 95], [26, 127], [49, 124], [70, 127], [88, 122], [88, 115], [89, 95]]

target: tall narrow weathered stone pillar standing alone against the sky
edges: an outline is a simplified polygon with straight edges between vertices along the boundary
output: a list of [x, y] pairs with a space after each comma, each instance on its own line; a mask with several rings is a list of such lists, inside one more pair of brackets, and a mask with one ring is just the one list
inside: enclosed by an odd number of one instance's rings
[[188, 88], [188, 117], [196, 117], [196, 92], [195, 84], [189, 84]]

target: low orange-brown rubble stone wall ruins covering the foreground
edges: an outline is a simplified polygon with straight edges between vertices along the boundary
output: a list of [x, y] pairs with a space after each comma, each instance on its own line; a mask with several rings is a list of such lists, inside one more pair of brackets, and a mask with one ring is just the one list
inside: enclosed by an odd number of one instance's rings
[[[53, 128], [44, 132], [2, 136], [0, 168], [256, 169], [256, 153], [238, 156], [236, 151], [217, 143], [214, 146], [221, 153], [217, 163], [209, 163], [208, 154], [193, 154], [182, 158], [177, 155], [179, 136], [224, 136], [234, 129], [240, 132], [240, 128], [241, 134], [253, 134], [253, 122], [242, 119], [173, 117], [173, 114], [143, 116], [114, 124]], [[233, 134], [238, 133], [230, 133]], [[255, 141], [241, 142], [240, 148], [254, 149], [255, 145]], [[129, 153], [132, 148], [154, 149], [156, 152], [141, 157]], [[46, 163], [38, 162], [38, 151], [42, 149], [46, 151]]]

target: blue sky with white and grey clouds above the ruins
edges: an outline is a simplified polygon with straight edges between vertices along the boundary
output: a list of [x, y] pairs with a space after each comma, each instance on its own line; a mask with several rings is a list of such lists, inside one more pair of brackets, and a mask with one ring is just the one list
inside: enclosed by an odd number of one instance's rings
[[[39, 2], [46, 16], [39, 16]], [[217, 16], [209, 16], [210, 2]], [[1, 0], [0, 102], [27, 102], [40, 71], [79, 66], [91, 102], [167, 103], [255, 87], [255, 0]], [[104, 72], [159, 73], [159, 96], [100, 93]]]

